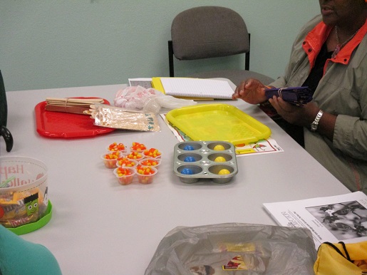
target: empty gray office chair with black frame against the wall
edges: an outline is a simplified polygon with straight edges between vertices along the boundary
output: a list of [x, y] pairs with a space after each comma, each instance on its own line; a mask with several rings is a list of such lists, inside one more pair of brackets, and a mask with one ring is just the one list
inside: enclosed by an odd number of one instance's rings
[[221, 6], [199, 6], [175, 16], [168, 41], [170, 77], [175, 76], [173, 56], [180, 61], [245, 54], [244, 70], [205, 71], [195, 78], [228, 78], [239, 85], [246, 78], [257, 78], [265, 85], [269, 76], [249, 71], [250, 35], [242, 17]]

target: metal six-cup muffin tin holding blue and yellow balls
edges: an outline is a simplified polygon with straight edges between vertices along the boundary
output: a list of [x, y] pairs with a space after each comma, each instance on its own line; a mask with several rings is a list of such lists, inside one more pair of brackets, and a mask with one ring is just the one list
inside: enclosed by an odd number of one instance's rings
[[200, 179], [227, 183], [238, 172], [234, 145], [224, 141], [179, 142], [175, 145], [173, 170], [185, 183]]

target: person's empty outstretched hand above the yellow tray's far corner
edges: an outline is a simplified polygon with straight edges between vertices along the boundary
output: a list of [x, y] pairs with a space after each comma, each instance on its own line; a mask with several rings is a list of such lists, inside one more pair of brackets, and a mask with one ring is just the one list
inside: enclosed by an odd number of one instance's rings
[[265, 86], [254, 78], [242, 81], [232, 95], [233, 99], [241, 98], [247, 103], [259, 104], [267, 100]]

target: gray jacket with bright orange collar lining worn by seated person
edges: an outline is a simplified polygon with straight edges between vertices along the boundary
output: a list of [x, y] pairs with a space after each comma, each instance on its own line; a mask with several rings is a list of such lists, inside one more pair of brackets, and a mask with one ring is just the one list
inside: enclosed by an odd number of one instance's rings
[[[301, 29], [294, 41], [284, 76], [270, 85], [292, 87], [304, 83], [310, 71], [309, 56], [304, 48], [306, 36], [315, 27], [320, 27], [318, 24], [321, 21], [321, 15], [316, 16]], [[327, 27], [324, 25], [325, 28]], [[347, 44], [348, 46], [359, 43], [358, 46], [349, 53], [346, 51], [351, 47], [345, 46], [346, 50], [342, 48], [336, 56], [337, 62], [327, 63], [324, 77], [321, 78], [314, 93], [314, 102], [321, 110], [337, 115], [333, 141], [318, 133], [311, 133], [306, 128], [304, 128], [304, 138], [306, 150], [331, 174], [343, 182], [349, 190], [362, 190], [367, 194], [366, 29], [367, 24]], [[321, 36], [319, 39], [322, 40]], [[312, 39], [309, 41], [310, 47], [312, 41]], [[324, 41], [318, 41], [318, 43], [324, 43]], [[308, 51], [312, 50], [311, 47]]]

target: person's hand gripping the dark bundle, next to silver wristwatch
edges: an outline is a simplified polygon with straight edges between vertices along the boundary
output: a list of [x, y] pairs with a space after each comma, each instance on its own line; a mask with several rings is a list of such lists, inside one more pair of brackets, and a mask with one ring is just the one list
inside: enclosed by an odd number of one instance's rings
[[315, 103], [297, 106], [287, 103], [281, 97], [276, 97], [276, 95], [270, 98], [269, 102], [284, 120], [301, 126], [311, 125], [320, 110]]

